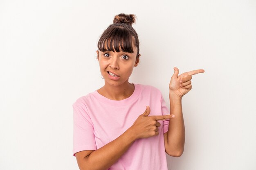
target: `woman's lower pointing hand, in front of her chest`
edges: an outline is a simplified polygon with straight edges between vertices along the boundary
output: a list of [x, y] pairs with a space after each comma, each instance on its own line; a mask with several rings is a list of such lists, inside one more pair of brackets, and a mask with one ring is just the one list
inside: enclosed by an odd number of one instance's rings
[[175, 118], [174, 115], [163, 115], [163, 116], [148, 116], [150, 113], [149, 106], [146, 106], [146, 111], [142, 113], [132, 124], [136, 139], [147, 138], [158, 135], [158, 127], [160, 123], [157, 120], [166, 120]]

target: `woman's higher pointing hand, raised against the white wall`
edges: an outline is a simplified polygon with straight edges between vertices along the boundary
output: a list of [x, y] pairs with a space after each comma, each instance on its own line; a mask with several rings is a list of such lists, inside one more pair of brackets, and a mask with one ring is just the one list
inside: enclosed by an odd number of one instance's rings
[[184, 72], [183, 74], [180, 74], [180, 76], [178, 76], [179, 69], [175, 67], [174, 74], [171, 77], [171, 81], [169, 84], [170, 93], [175, 94], [179, 98], [182, 98], [182, 96], [187, 94], [192, 89], [192, 85], [191, 85], [192, 75], [203, 73], [203, 72], [204, 70], [202, 69], [193, 70], [190, 72]]

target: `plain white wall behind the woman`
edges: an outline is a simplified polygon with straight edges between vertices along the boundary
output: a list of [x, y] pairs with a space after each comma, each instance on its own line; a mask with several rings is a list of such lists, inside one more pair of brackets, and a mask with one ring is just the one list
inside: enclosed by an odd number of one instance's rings
[[256, 169], [256, 1], [0, 0], [0, 169], [75, 170], [72, 104], [103, 85], [97, 41], [137, 15], [141, 63], [130, 82], [193, 76], [186, 144], [170, 170]]

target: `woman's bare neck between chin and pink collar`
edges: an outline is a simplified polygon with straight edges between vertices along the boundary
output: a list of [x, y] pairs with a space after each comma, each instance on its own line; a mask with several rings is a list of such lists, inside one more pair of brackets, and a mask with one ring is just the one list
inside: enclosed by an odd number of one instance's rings
[[111, 100], [124, 100], [132, 95], [134, 89], [134, 85], [129, 82], [119, 86], [112, 86], [108, 83], [105, 83], [105, 85], [97, 91], [102, 96], [109, 98]]

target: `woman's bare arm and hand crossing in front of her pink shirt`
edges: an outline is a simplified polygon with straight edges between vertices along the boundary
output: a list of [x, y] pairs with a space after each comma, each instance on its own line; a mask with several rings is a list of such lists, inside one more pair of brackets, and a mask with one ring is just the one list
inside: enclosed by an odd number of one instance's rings
[[160, 123], [157, 120], [172, 118], [171, 115], [148, 116], [150, 108], [141, 114], [132, 126], [117, 139], [97, 150], [84, 150], [76, 153], [80, 170], [106, 170], [130, 148], [136, 139], [158, 135]]

